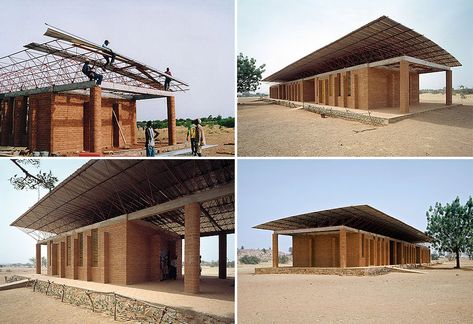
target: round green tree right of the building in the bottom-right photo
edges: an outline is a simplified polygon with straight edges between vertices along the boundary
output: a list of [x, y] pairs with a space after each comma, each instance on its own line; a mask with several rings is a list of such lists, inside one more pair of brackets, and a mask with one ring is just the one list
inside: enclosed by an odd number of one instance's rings
[[473, 248], [473, 199], [464, 206], [457, 197], [451, 204], [430, 206], [427, 215], [427, 235], [432, 237], [435, 249], [454, 253], [455, 268], [460, 268], [460, 253]]

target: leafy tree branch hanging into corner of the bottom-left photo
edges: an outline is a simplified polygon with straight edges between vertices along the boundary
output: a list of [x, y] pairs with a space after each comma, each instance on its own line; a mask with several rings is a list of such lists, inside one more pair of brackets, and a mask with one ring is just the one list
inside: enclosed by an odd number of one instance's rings
[[40, 167], [40, 162], [37, 159], [12, 159], [11, 161], [24, 173], [24, 176], [18, 176], [15, 174], [9, 179], [10, 183], [16, 190], [33, 190], [44, 188], [51, 191], [58, 182], [57, 177], [52, 174], [51, 170], [49, 170], [49, 173], [39, 170], [36, 175], [33, 175], [26, 169], [26, 166], [33, 166], [34, 168], [38, 169]]

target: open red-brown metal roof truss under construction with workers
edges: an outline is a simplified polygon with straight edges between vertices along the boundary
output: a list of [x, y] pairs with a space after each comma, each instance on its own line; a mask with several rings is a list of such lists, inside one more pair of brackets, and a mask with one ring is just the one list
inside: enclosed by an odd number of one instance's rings
[[[88, 81], [82, 73], [86, 61], [95, 65], [95, 72], [102, 74], [105, 82], [163, 90], [166, 79], [163, 72], [121, 56], [113, 66], [105, 67], [103, 52], [69, 41], [54, 39], [25, 47], [0, 57], [0, 94]], [[170, 91], [187, 89], [187, 84], [172, 79]]]

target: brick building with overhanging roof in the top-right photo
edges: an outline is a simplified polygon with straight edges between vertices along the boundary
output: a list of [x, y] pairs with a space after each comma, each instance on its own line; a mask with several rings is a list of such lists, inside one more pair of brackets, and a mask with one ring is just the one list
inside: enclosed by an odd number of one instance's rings
[[452, 69], [446, 50], [386, 16], [266, 77], [269, 97], [372, 110], [419, 104], [419, 75], [445, 72], [445, 104], [452, 104]]

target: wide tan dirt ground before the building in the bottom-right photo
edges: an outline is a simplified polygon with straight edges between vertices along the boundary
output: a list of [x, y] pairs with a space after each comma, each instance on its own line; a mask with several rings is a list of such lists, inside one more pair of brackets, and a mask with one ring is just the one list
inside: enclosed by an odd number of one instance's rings
[[473, 262], [462, 265], [470, 269], [450, 262], [425, 274], [374, 277], [254, 275], [245, 266], [238, 269], [238, 322], [471, 323]]

